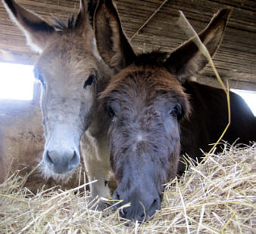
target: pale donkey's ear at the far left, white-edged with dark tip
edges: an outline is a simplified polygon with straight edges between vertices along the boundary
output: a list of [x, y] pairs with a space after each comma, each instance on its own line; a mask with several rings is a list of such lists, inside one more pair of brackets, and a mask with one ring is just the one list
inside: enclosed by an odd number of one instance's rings
[[14, 0], [2, 0], [8, 14], [17, 26], [25, 33], [28, 44], [36, 51], [42, 51], [47, 38], [55, 32], [54, 27], [48, 25], [42, 18], [22, 8]]

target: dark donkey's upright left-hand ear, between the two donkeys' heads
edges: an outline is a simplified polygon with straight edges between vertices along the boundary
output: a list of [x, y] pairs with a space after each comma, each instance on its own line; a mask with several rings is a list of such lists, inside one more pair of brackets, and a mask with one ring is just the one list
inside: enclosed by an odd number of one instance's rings
[[117, 71], [133, 62], [136, 55], [123, 32], [117, 8], [111, 0], [100, 0], [94, 17], [98, 52]]

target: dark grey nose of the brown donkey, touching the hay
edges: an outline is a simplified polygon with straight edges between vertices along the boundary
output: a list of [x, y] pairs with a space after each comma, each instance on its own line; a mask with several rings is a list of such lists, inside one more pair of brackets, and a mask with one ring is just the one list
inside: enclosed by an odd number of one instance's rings
[[116, 208], [130, 203], [129, 207], [120, 208], [120, 217], [143, 222], [161, 208], [161, 199], [157, 192], [144, 191], [140, 195], [142, 196], [139, 196], [138, 192], [133, 192], [130, 196], [127, 196], [125, 192], [117, 192], [117, 190], [114, 192], [114, 200], [123, 200], [115, 206]]

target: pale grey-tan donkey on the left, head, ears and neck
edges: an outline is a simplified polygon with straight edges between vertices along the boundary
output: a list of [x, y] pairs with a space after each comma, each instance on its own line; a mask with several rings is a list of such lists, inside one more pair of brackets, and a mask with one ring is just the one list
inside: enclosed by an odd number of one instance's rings
[[108, 196], [105, 180], [110, 165], [103, 126], [108, 115], [96, 108], [96, 96], [105, 89], [111, 69], [95, 48], [92, 17], [96, 1], [81, 0], [76, 20], [71, 17], [67, 25], [59, 20], [50, 25], [14, 0], [2, 2], [30, 47], [40, 54], [34, 72], [42, 84], [42, 174], [67, 181], [80, 164], [81, 151], [89, 180], [98, 180], [90, 186], [91, 195]]

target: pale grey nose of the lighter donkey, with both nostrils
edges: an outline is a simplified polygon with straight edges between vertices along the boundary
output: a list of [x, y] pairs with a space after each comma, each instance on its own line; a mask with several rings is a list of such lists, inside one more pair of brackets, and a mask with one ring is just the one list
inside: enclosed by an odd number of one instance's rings
[[64, 174], [80, 163], [80, 155], [74, 150], [47, 150], [43, 161], [57, 174]]

